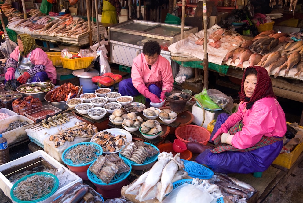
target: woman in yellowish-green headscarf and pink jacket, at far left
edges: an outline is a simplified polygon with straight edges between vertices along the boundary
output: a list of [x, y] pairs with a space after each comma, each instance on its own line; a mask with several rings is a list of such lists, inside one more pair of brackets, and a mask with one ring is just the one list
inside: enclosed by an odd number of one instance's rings
[[31, 35], [20, 34], [17, 40], [18, 46], [6, 61], [5, 80], [17, 79], [24, 84], [50, 79], [56, 83], [56, 68], [47, 54], [36, 46], [35, 39]]

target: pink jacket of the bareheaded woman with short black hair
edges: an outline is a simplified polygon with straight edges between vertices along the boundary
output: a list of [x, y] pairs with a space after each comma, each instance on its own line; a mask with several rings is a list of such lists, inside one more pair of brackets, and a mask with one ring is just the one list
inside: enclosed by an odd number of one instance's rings
[[144, 83], [158, 82], [161, 80], [163, 82], [162, 91], [167, 90], [170, 92], [173, 89], [174, 80], [172, 68], [169, 61], [161, 55], [158, 56], [156, 63], [149, 69], [145, 55], [143, 53], [139, 54], [133, 60], [131, 77], [133, 86], [136, 89], [141, 84], [145, 85]]

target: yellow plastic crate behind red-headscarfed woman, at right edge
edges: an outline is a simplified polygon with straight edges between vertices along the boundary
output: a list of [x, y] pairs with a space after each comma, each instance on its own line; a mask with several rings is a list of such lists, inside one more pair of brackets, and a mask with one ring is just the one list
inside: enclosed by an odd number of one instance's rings
[[[287, 124], [290, 124], [288, 122], [286, 122]], [[302, 126], [299, 126], [300, 128], [303, 128]], [[283, 154], [279, 154], [279, 156], [275, 159], [275, 161], [273, 161], [273, 164], [277, 164], [279, 166], [283, 166], [287, 169], [290, 169], [292, 167], [292, 165], [294, 164], [294, 162], [297, 161], [299, 155], [302, 153], [303, 151], [303, 142], [301, 142], [300, 144], [298, 144], [296, 146], [296, 148], [294, 148], [294, 150], [292, 152], [288, 153], [283, 153]]]

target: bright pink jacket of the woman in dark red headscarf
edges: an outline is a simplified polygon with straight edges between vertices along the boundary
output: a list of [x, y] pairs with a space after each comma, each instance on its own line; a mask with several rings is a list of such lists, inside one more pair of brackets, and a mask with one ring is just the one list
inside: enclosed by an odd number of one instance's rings
[[263, 135], [267, 137], [285, 135], [285, 114], [275, 98], [262, 98], [248, 110], [245, 108], [245, 104], [240, 104], [236, 113], [242, 118], [244, 126], [232, 138], [234, 147], [238, 149], [252, 147], [261, 140]]

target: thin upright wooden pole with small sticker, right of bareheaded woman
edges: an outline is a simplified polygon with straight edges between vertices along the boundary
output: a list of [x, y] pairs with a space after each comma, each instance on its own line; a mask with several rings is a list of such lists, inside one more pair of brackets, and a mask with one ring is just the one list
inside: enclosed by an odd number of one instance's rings
[[[184, 1], [184, 0], [183, 0]], [[203, 0], [203, 29], [204, 29], [204, 59], [203, 59], [203, 89], [208, 89], [208, 54], [207, 54], [207, 7]]]

